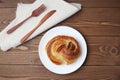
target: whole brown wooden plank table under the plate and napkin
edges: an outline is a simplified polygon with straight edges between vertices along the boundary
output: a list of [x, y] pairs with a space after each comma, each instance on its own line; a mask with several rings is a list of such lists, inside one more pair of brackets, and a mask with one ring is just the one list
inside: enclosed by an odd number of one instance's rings
[[[32, 3], [35, 0], [22, 0]], [[40, 62], [42, 33], [8, 52], [0, 51], [0, 80], [120, 80], [120, 0], [66, 0], [83, 5], [82, 11], [57, 24], [79, 30], [88, 44], [84, 65], [58, 75]], [[19, 0], [0, 0], [0, 31], [15, 18]]]

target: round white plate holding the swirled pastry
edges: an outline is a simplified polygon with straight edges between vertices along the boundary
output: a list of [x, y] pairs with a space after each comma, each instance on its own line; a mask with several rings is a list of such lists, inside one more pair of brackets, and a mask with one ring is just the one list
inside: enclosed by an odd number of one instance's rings
[[[73, 64], [56, 65], [53, 62], [51, 62], [51, 60], [48, 58], [47, 53], [45, 51], [45, 46], [50, 39], [52, 39], [57, 35], [72, 36], [78, 41], [79, 45], [81, 46], [81, 50], [82, 50], [81, 56]], [[67, 26], [58, 26], [52, 28], [51, 30], [45, 33], [39, 44], [39, 57], [42, 64], [48, 70], [57, 74], [69, 74], [76, 71], [84, 63], [86, 56], [87, 56], [87, 45], [85, 39], [77, 30]]]

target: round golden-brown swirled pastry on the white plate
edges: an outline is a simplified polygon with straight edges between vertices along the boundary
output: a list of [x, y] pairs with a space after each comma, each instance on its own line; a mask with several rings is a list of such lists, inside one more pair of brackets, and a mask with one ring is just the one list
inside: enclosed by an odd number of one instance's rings
[[46, 52], [57, 65], [72, 64], [80, 55], [80, 47], [73, 37], [58, 35], [47, 43]]

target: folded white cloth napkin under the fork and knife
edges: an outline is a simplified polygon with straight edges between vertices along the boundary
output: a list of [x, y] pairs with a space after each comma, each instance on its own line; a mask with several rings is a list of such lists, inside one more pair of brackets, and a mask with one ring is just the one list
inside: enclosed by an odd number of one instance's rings
[[[38, 17], [32, 17], [21, 25], [16, 31], [11, 34], [7, 34], [7, 31], [23, 21], [25, 18], [31, 15], [32, 11], [38, 8], [41, 4], [46, 6], [46, 10]], [[20, 40], [29, 31], [31, 31], [42, 19], [42, 17], [51, 10], [56, 10], [47, 21], [45, 21], [26, 41], [34, 38], [43, 31], [51, 28], [57, 23], [65, 20], [71, 15], [75, 14], [81, 9], [81, 5], [77, 3], [68, 3], [64, 0], [36, 0], [32, 4], [18, 3], [16, 10], [16, 18], [0, 33], [0, 48], [3, 51], [7, 51], [20, 45]]]

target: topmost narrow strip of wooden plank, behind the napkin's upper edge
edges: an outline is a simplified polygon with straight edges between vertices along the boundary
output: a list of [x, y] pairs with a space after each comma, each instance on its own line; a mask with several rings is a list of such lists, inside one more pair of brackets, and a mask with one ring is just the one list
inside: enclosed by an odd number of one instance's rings
[[[18, 2], [23, 3], [32, 3], [35, 0], [0, 0], [0, 7], [1, 8], [9, 8], [9, 7], [16, 7]], [[83, 7], [103, 7], [103, 8], [120, 8], [120, 0], [66, 0], [68, 2], [77, 2], [81, 3]]]

